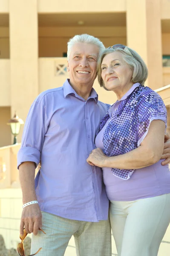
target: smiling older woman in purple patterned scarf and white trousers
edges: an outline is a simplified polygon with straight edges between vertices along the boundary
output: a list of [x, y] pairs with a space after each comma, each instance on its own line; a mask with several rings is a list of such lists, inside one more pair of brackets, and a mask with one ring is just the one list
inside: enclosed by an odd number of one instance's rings
[[167, 111], [144, 87], [147, 67], [133, 49], [115, 45], [98, 61], [98, 81], [118, 100], [101, 120], [87, 162], [103, 169], [119, 256], [156, 256], [170, 223], [170, 172], [161, 165]]

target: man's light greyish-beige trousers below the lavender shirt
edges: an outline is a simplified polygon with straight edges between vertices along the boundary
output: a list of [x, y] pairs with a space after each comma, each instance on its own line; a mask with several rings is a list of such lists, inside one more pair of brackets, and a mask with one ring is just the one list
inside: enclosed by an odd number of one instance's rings
[[72, 235], [77, 256], [111, 256], [111, 228], [108, 221], [74, 221], [42, 212], [43, 226], [32, 235], [31, 254], [40, 247], [38, 256], [63, 256]]

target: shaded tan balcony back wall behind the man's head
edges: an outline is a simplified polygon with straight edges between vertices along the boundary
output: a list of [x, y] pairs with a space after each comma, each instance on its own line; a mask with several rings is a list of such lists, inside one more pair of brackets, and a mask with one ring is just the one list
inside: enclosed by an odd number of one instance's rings
[[126, 27], [122, 26], [39, 27], [39, 57], [63, 57], [69, 39], [83, 33], [100, 38], [106, 47], [126, 44]]

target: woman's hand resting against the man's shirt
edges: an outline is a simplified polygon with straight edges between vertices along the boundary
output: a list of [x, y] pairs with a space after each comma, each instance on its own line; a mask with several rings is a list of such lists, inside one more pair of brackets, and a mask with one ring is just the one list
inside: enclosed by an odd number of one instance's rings
[[108, 158], [108, 156], [103, 153], [101, 148], [95, 148], [89, 154], [89, 157], [87, 158], [86, 161], [91, 166], [104, 167], [105, 166], [104, 163], [107, 160], [107, 158]]

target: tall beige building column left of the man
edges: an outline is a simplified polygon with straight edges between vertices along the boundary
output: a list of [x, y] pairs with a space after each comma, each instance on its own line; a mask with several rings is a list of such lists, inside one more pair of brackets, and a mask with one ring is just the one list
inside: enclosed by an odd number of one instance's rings
[[37, 0], [9, 0], [9, 21], [11, 115], [17, 111], [18, 116], [25, 121], [38, 94]]

